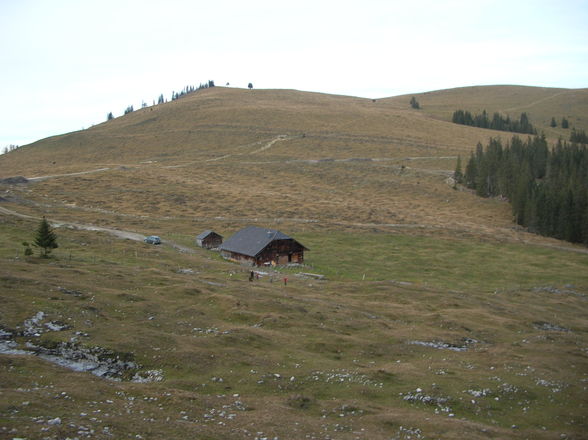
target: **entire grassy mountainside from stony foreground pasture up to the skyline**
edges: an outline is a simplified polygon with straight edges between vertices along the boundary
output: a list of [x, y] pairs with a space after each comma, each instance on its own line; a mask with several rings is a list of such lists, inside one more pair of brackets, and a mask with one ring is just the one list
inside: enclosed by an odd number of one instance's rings
[[[586, 438], [588, 252], [449, 179], [510, 135], [445, 114], [554, 94], [588, 116], [553, 89], [415, 111], [213, 88], [0, 156], [0, 178], [30, 178], [0, 184], [0, 438]], [[27, 257], [43, 215], [60, 247]], [[194, 246], [250, 224], [300, 240], [306, 266], [249, 282]]]

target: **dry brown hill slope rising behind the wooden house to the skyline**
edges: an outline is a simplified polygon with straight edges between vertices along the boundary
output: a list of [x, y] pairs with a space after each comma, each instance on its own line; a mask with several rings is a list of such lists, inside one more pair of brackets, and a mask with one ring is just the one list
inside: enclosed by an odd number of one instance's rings
[[[518, 89], [527, 101], [545, 94]], [[431, 99], [451, 108], [468, 90]], [[524, 101], [506, 95], [489, 102]], [[513, 229], [504, 201], [455, 191], [448, 180], [457, 156], [491, 136], [510, 134], [439, 120], [396, 98], [212, 88], [18, 149], [0, 157], [0, 177], [41, 179], [27, 199], [58, 216], [118, 213], [123, 223], [146, 218], [146, 228], [167, 228], [167, 218], [297, 218], [535, 240]], [[112, 225], [107, 217], [92, 221]]]

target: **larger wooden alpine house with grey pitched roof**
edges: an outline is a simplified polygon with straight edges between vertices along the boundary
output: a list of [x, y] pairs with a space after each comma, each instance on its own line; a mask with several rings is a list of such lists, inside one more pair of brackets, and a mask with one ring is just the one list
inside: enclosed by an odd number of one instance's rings
[[303, 263], [308, 249], [275, 229], [248, 226], [220, 246], [224, 258], [256, 266], [263, 264]]

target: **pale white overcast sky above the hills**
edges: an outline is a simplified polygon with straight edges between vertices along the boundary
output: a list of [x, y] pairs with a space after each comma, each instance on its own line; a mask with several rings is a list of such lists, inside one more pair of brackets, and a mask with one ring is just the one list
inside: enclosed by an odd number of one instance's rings
[[382, 98], [588, 87], [588, 0], [0, 0], [0, 149], [207, 80]]

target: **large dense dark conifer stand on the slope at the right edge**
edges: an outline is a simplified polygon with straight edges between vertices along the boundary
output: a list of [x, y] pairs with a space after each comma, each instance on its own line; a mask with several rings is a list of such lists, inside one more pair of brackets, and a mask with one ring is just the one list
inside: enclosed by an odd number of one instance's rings
[[545, 136], [527, 141], [514, 136], [502, 145], [490, 139], [455, 180], [482, 197], [503, 196], [512, 205], [516, 222], [529, 231], [588, 245], [588, 149], [586, 144], [561, 139], [549, 149]]

